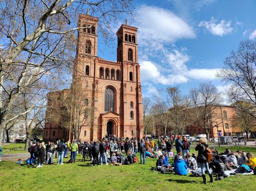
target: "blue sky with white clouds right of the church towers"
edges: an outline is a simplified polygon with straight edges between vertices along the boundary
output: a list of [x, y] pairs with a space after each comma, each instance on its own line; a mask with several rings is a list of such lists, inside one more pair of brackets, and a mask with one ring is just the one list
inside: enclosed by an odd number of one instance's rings
[[256, 38], [256, 0], [134, 0], [133, 5], [128, 25], [138, 28], [143, 96], [169, 86], [187, 94], [207, 81], [227, 91], [216, 71], [240, 41]]

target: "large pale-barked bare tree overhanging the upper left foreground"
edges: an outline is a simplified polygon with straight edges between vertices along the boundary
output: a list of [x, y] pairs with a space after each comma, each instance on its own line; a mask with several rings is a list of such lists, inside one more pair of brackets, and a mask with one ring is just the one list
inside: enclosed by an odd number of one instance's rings
[[48, 83], [63, 79], [68, 68], [72, 68], [79, 29], [76, 27], [78, 14], [90, 9], [91, 15], [100, 19], [98, 31], [107, 41], [112, 39], [112, 35], [108, 35], [112, 31], [111, 24], [121, 13], [131, 14], [130, 7], [130, 0], [2, 1], [0, 138], [11, 106], [24, 89], [42, 79]]

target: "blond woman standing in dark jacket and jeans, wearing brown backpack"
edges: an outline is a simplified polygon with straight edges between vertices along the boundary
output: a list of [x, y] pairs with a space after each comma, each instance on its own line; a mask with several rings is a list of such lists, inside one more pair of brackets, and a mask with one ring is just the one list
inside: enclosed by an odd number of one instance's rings
[[[203, 155], [204, 154], [205, 148], [208, 147], [208, 145], [206, 143], [207, 143], [206, 138], [200, 138], [199, 139], [199, 143], [195, 148], [195, 150], [198, 151], [198, 155]], [[202, 172], [202, 177], [203, 177], [203, 184], [206, 184], [205, 168], [206, 168], [206, 170], [208, 172], [208, 175], [210, 177], [210, 182], [213, 182], [212, 173], [209, 169], [208, 163], [207, 162], [201, 162], [201, 161], [198, 161], [198, 162], [199, 162], [200, 167], [201, 167], [201, 172]]]

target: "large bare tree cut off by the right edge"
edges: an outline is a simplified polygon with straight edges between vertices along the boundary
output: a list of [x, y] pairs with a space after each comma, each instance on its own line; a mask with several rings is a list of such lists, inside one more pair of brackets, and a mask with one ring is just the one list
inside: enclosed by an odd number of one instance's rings
[[232, 50], [216, 76], [230, 84], [227, 93], [231, 102], [249, 103], [246, 107], [239, 104], [239, 110], [256, 118], [256, 39], [241, 41], [238, 50]]

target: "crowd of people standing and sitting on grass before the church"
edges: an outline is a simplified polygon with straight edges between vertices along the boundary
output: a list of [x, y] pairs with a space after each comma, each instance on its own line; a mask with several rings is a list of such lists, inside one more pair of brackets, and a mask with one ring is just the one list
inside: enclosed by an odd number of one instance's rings
[[[92, 166], [99, 165], [129, 165], [132, 163], [146, 163], [146, 158], [155, 158], [156, 170], [160, 173], [174, 172], [178, 175], [198, 175], [203, 178], [206, 184], [205, 172], [208, 173], [210, 182], [213, 182], [212, 173], [215, 173], [216, 179], [221, 180], [228, 175], [225, 170], [234, 170], [231, 175], [248, 173], [252, 170], [256, 171], [256, 157], [253, 153], [245, 151], [230, 151], [228, 148], [224, 152], [218, 152], [215, 148], [210, 149], [212, 158], [210, 160], [201, 159], [205, 150], [208, 150], [207, 139], [200, 138], [195, 150], [196, 153], [190, 153], [190, 141], [186, 136], [181, 138], [178, 136], [175, 140], [176, 155], [173, 152], [172, 140], [158, 139], [157, 143], [153, 139], [136, 138], [126, 139], [116, 138], [115, 136], [106, 136], [102, 141], [84, 141], [74, 140], [72, 143], [65, 142], [64, 139], [56, 141], [56, 143], [44, 142], [30, 143], [30, 165], [42, 167], [44, 162], [53, 164], [54, 153], [55, 158], [58, 157], [57, 165], [63, 164], [63, 157], [70, 159], [68, 163], [75, 163], [77, 153], [83, 156], [82, 161], [91, 160]], [[124, 151], [124, 155], [123, 152]], [[140, 153], [140, 161], [135, 154]], [[173, 163], [169, 163], [169, 158], [173, 159]], [[155, 167], [152, 167], [153, 170]], [[200, 169], [201, 171], [199, 171]], [[256, 172], [255, 172], [256, 173]]]

